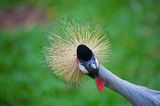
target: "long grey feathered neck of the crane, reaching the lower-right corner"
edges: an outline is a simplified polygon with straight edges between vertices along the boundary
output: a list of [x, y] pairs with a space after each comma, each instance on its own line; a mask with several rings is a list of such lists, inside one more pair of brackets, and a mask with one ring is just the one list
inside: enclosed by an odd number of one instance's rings
[[160, 92], [132, 84], [99, 66], [99, 76], [105, 86], [124, 96], [134, 106], [160, 106]]

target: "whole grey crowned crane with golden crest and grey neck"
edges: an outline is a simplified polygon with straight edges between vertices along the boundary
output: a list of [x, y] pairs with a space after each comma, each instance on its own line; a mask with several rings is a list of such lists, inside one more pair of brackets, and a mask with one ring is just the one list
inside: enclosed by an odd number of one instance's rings
[[109, 42], [101, 25], [62, 19], [48, 33], [46, 61], [53, 73], [66, 82], [78, 84], [84, 75], [96, 80], [99, 91], [107, 87], [134, 106], [160, 106], [160, 92], [132, 84], [103, 67]]

